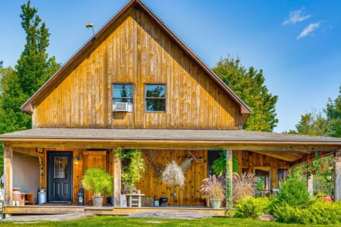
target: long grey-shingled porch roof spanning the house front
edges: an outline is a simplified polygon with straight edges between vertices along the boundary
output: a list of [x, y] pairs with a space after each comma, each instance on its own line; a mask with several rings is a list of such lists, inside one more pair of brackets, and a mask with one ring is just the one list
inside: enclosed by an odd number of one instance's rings
[[0, 135], [0, 140], [11, 148], [225, 148], [251, 150], [288, 162], [301, 162], [316, 151], [341, 150], [341, 138], [244, 130], [34, 128]]

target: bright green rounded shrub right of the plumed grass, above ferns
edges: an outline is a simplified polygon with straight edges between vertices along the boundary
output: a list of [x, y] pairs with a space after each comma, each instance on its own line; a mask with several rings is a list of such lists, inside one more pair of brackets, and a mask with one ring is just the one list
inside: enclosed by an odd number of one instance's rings
[[313, 203], [308, 193], [306, 182], [297, 177], [289, 176], [278, 187], [278, 196], [274, 200], [274, 206], [285, 205], [307, 207]]

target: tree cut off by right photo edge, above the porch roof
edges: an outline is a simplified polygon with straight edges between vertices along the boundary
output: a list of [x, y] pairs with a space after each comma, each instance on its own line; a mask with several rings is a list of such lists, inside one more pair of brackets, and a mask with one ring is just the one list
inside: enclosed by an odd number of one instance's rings
[[327, 121], [329, 124], [328, 135], [341, 137], [341, 86], [339, 96], [337, 96], [334, 101], [332, 101], [332, 99], [328, 99], [325, 114], [327, 115]]

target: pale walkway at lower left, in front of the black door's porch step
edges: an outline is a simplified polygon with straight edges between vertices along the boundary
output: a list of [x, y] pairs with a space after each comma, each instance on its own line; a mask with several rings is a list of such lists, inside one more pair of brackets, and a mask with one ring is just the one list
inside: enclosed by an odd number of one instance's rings
[[94, 214], [18, 215], [0, 219], [0, 222], [36, 223], [39, 221], [72, 221], [94, 216]]

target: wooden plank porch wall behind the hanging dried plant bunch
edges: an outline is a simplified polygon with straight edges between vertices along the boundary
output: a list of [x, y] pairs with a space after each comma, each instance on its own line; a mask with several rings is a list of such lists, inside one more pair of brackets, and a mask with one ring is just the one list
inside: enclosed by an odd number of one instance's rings
[[[156, 171], [157, 167], [165, 168], [168, 162], [173, 160], [180, 165], [186, 157], [191, 157], [190, 152], [197, 155], [198, 161], [193, 160], [192, 165], [184, 172], [185, 185], [174, 189], [165, 184], [161, 175]], [[141, 193], [147, 197], [159, 199], [161, 196], [168, 198], [167, 205], [171, 206], [203, 206], [201, 199], [200, 185], [202, 179], [207, 177], [207, 151], [205, 150], [144, 150], [144, 156], [153, 153], [155, 160], [146, 162], [144, 177], [136, 184], [136, 189], [141, 189]], [[152, 155], [153, 156], [153, 155]], [[147, 160], [147, 158], [145, 158]], [[173, 193], [176, 196], [173, 196]]]

